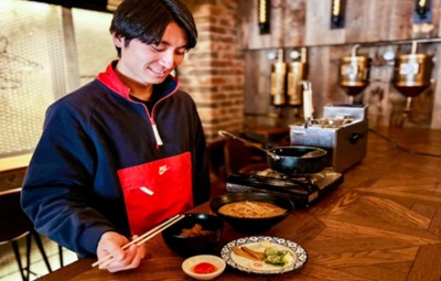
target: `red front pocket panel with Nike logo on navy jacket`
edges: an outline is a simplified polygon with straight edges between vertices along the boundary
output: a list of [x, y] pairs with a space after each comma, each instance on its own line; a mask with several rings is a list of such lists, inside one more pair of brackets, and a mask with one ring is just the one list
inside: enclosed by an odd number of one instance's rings
[[118, 171], [132, 235], [193, 207], [190, 152]]

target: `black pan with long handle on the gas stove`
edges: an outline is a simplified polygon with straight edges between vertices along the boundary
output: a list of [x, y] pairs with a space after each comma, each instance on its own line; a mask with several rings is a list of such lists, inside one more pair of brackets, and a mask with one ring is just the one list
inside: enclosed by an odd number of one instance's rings
[[292, 145], [265, 150], [230, 132], [218, 131], [218, 134], [222, 137], [228, 136], [263, 151], [267, 154], [269, 167], [289, 176], [318, 173], [325, 166], [324, 158], [326, 151], [320, 148]]

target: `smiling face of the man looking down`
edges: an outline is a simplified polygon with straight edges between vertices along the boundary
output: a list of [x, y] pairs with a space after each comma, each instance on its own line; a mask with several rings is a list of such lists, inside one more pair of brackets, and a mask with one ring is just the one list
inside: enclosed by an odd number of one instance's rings
[[114, 43], [121, 48], [118, 72], [143, 86], [162, 83], [182, 63], [186, 52], [185, 31], [175, 22], [166, 26], [158, 45], [133, 39], [125, 46], [125, 39], [115, 35]]

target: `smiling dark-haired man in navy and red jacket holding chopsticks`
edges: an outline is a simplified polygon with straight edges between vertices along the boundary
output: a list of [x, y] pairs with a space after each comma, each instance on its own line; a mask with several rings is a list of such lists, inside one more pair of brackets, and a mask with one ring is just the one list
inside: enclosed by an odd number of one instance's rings
[[180, 0], [125, 0], [110, 25], [119, 60], [54, 102], [23, 183], [36, 229], [79, 257], [137, 268], [142, 246], [121, 247], [209, 198], [196, 107], [170, 73], [197, 31]]

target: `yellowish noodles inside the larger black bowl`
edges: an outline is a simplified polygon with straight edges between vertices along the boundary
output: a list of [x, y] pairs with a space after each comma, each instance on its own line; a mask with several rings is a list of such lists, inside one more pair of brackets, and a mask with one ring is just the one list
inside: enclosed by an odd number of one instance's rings
[[225, 204], [218, 212], [232, 217], [261, 218], [281, 215], [287, 209], [266, 202], [241, 201]]

